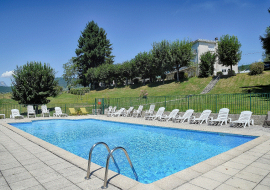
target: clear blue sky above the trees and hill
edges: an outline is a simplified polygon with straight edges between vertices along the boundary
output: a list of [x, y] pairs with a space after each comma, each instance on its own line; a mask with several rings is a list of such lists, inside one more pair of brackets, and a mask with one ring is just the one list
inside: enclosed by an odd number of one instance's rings
[[107, 32], [115, 63], [149, 51], [153, 42], [214, 40], [229, 34], [242, 44], [242, 64], [262, 58], [259, 36], [270, 25], [269, 0], [1, 0], [0, 81], [28, 61], [63, 74], [86, 24]]

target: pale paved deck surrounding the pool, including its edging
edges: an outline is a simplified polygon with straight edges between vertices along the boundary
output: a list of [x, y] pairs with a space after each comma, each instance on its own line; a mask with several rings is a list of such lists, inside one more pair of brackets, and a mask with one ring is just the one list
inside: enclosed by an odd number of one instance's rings
[[[270, 128], [179, 124], [103, 115], [63, 119], [86, 118], [259, 136], [151, 184], [142, 184], [110, 171], [108, 189], [270, 189]], [[43, 119], [0, 120], [0, 189], [101, 189], [103, 167], [92, 163], [91, 179], [85, 180], [87, 160], [7, 124]]]

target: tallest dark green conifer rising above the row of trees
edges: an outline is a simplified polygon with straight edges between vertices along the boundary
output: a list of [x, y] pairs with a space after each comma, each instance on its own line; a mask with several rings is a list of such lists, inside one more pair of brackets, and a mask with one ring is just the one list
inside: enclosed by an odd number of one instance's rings
[[77, 57], [74, 61], [78, 67], [79, 84], [88, 85], [85, 74], [89, 68], [113, 63], [111, 45], [103, 28], [99, 28], [94, 21], [87, 23], [75, 50]]

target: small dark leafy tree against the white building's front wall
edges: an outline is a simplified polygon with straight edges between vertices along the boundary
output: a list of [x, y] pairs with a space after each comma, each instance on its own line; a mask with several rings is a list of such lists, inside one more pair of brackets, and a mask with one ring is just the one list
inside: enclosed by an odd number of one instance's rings
[[200, 57], [200, 74], [199, 77], [209, 77], [213, 75], [214, 73], [214, 64], [216, 60], [217, 55], [215, 53], [206, 52], [201, 55]]

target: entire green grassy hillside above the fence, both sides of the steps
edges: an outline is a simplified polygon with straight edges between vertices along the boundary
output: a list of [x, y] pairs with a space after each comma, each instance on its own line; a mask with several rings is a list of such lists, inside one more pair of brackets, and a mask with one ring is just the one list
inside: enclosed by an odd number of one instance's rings
[[[209, 94], [232, 94], [247, 93], [269, 93], [270, 92], [270, 71], [264, 71], [261, 75], [249, 76], [248, 74], [237, 74], [234, 77], [220, 79]], [[131, 85], [110, 89], [91, 90], [85, 95], [73, 95], [63, 93], [55, 98], [49, 98], [52, 104], [60, 103], [88, 103], [92, 104], [95, 98], [121, 98], [121, 97], [139, 97], [141, 90], [146, 90], [148, 96], [174, 96], [200, 94], [207, 84], [212, 80], [208, 78], [190, 78], [188, 81], [166, 81], [147, 84], [145, 86]], [[11, 99], [10, 94], [0, 94], [0, 104], [17, 104]]]

